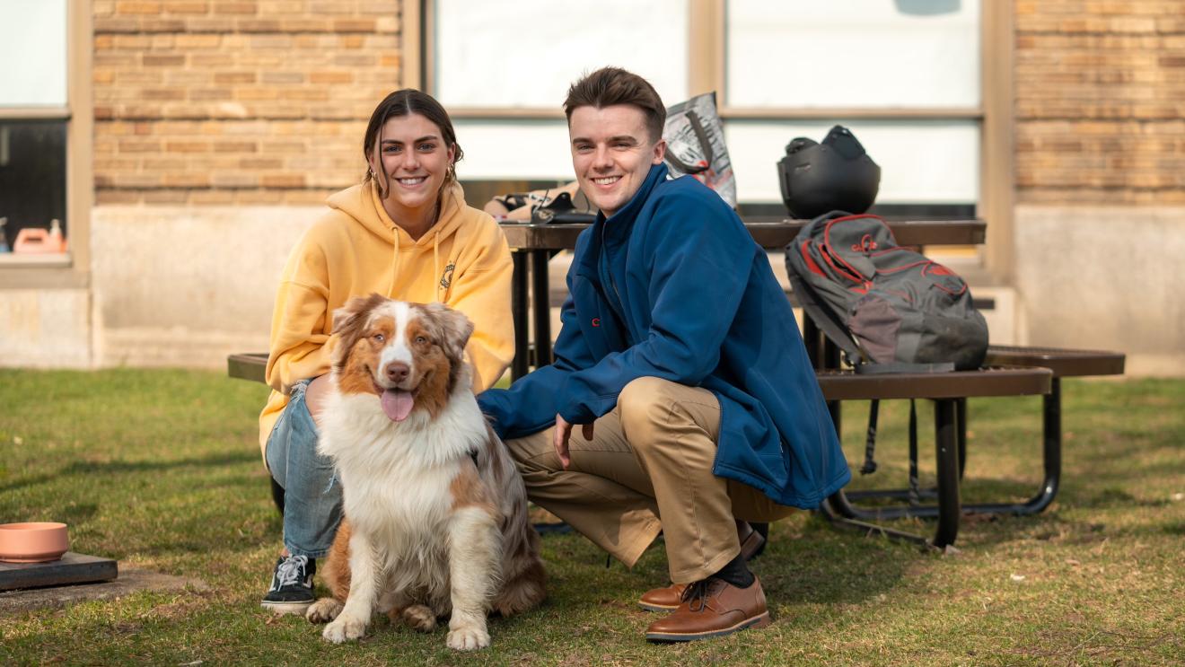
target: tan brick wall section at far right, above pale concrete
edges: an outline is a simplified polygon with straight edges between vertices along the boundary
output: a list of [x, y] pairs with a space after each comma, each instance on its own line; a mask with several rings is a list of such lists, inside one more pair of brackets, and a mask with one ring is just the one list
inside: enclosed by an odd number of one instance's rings
[[1016, 0], [1021, 203], [1185, 203], [1185, 2]]

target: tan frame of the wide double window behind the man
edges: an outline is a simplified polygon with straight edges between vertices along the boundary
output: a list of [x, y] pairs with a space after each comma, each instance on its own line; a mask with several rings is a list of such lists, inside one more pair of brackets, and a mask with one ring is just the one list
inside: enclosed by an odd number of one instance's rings
[[[720, 118], [729, 120], [959, 120], [980, 124], [978, 217], [988, 220], [984, 267], [997, 280], [1013, 278], [1013, 205], [1016, 201], [1013, 100], [1013, 8], [1012, 2], [985, 0], [980, 5], [980, 104], [953, 108], [743, 108], [725, 98], [726, 0], [688, 1], [688, 44], [698, 47], [687, 54], [688, 96], [718, 91]], [[434, 76], [434, 0], [406, 0], [403, 5], [405, 32], [403, 82], [427, 90]], [[428, 90], [428, 92], [433, 92]], [[455, 118], [562, 118], [555, 109], [476, 108], [449, 109]]]

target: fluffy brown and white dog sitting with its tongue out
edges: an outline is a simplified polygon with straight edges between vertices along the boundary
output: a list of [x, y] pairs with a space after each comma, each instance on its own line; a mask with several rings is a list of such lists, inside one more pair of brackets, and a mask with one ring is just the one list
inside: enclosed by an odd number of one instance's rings
[[478, 408], [463, 360], [473, 323], [442, 303], [378, 294], [333, 313], [331, 390], [318, 451], [333, 460], [344, 518], [309, 607], [322, 636], [361, 637], [377, 609], [447, 643], [489, 646], [486, 617], [545, 597], [526, 488]]

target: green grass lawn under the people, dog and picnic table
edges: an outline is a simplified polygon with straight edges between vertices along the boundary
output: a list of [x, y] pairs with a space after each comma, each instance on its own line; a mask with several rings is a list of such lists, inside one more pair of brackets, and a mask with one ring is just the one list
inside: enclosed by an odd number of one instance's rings
[[[478, 654], [376, 621], [331, 646], [260, 609], [280, 520], [256, 444], [264, 387], [192, 371], [0, 371], [0, 521], [70, 524], [72, 549], [196, 577], [204, 592], [0, 617], [0, 663], [181, 665], [1075, 665], [1185, 662], [1185, 381], [1063, 385], [1057, 502], [1027, 518], [965, 520], [959, 553], [833, 530], [808, 513], [774, 526], [754, 569], [776, 622], [685, 646], [642, 640], [633, 601], [666, 582], [652, 549], [628, 571], [576, 535], [544, 538], [550, 599], [494, 620]], [[883, 405], [882, 470], [901, 486], [908, 404]], [[967, 500], [1027, 498], [1040, 479], [1037, 398], [969, 406]], [[863, 456], [859, 406], [845, 449]], [[923, 424], [923, 483], [933, 443]], [[929, 469], [927, 469], [929, 466]], [[933, 525], [899, 521], [930, 533]]]

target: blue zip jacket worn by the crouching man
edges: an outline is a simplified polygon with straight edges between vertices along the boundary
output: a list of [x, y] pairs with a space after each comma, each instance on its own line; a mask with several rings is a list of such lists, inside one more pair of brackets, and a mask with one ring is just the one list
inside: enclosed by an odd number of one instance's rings
[[653, 376], [719, 399], [717, 476], [807, 509], [851, 479], [769, 259], [710, 188], [652, 167], [581, 233], [568, 289], [555, 364], [479, 397], [499, 436], [592, 422]]

